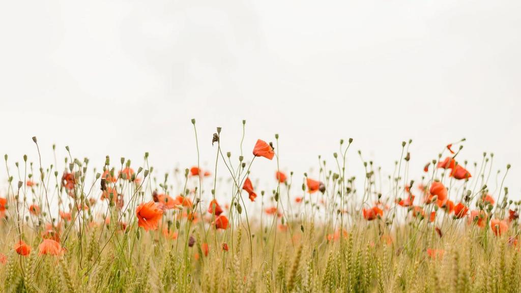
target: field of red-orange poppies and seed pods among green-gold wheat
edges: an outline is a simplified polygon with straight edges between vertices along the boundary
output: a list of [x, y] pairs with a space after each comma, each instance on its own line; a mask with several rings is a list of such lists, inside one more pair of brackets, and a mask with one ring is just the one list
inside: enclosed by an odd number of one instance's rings
[[[412, 141], [381, 170], [356, 139], [340, 139], [298, 174], [281, 168], [277, 134], [242, 139], [232, 154], [221, 128], [198, 137], [192, 126], [194, 163], [166, 173], [148, 153], [93, 166], [53, 146], [47, 158], [36, 137], [35, 156], [5, 155], [0, 291], [521, 291], [511, 166], [490, 153], [461, 159], [465, 139], [415, 158], [423, 170], [410, 168]], [[201, 144], [215, 158], [204, 168]], [[270, 177], [256, 176], [259, 160]]]

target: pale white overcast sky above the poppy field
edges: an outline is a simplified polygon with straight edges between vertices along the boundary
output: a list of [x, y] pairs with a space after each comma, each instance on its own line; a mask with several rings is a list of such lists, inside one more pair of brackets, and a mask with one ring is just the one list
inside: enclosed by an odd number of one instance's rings
[[[358, 149], [392, 172], [412, 138], [418, 179], [466, 137], [460, 158], [512, 163], [519, 197], [519, 11], [517, 0], [3, 1], [0, 152], [35, 160], [36, 135], [44, 164], [56, 143], [98, 166], [149, 151], [156, 168], [185, 168], [196, 118], [211, 165], [215, 127], [237, 155], [246, 119], [247, 159], [279, 133], [281, 166], [300, 176], [353, 137], [351, 173]], [[253, 172], [271, 182], [275, 169], [259, 160]]]

